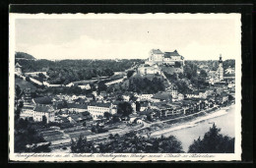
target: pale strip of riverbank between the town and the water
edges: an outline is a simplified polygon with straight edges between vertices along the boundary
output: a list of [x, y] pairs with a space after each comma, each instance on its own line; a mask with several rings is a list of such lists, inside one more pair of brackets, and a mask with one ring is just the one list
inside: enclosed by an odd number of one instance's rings
[[215, 111], [212, 111], [211, 113], [208, 113], [204, 116], [200, 116], [198, 118], [194, 118], [194, 119], [189, 120], [189, 121], [185, 121], [185, 122], [182, 122], [182, 123], [170, 125], [170, 127], [166, 128], [166, 129], [162, 129], [162, 130], [158, 130], [158, 131], [152, 131], [152, 132], [150, 132], [150, 136], [152, 138], [157, 138], [157, 137], [160, 137], [161, 135], [164, 136], [164, 134], [168, 134], [170, 132], [195, 127], [200, 122], [204, 122], [204, 121], [209, 120], [209, 119], [221, 117], [221, 116], [227, 114], [228, 113], [227, 111], [230, 108], [232, 108], [233, 106], [235, 106], [235, 104], [230, 104], [229, 106], [217, 109]]

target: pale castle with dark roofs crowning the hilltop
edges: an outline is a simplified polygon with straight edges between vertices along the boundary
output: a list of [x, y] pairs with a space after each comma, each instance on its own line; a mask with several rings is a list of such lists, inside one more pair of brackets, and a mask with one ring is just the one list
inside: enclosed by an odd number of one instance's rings
[[175, 65], [175, 62], [179, 62], [182, 66], [184, 65], [184, 57], [179, 55], [177, 50], [173, 52], [161, 52], [160, 49], [152, 49], [150, 51], [150, 57], [145, 64]]

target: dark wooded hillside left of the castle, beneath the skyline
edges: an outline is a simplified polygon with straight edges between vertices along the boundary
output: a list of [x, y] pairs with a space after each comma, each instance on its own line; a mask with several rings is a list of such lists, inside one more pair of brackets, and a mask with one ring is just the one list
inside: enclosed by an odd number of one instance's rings
[[19, 63], [25, 73], [46, 71], [51, 84], [69, 84], [98, 76], [112, 76], [113, 72], [123, 72], [142, 63], [142, 60], [19, 60]]

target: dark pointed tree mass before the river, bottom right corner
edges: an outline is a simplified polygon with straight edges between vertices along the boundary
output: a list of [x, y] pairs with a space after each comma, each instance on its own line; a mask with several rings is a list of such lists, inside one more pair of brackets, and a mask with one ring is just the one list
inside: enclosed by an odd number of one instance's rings
[[221, 129], [218, 129], [214, 124], [201, 140], [198, 140], [189, 146], [190, 153], [233, 153], [234, 138], [229, 138], [220, 134]]

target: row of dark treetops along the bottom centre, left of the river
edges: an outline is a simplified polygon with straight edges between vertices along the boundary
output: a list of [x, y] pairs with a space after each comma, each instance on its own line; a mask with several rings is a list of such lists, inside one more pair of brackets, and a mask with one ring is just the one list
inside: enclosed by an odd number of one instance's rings
[[108, 142], [96, 144], [85, 137], [72, 140], [71, 151], [74, 153], [181, 153], [181, 142], [175, 137], [145, 138], [136, 133], [124, 136], [109, 135]]

